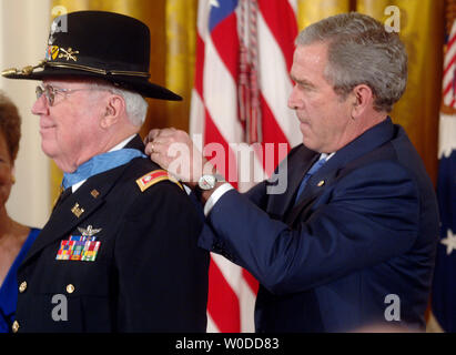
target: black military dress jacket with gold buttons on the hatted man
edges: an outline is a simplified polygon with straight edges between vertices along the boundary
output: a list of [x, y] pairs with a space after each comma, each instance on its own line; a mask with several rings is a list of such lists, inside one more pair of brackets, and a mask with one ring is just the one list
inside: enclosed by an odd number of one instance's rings
[[[144, 146], [136, 136], [125, 148]], [[18, 271], [16, 331], [205, 332], [202, 221], [170, 180], [141, 191], [136, 180], [159, 169], [133, 159], [57, 205]], [[58, 260], [62, 241], [81, 234], [100, 242], [94, 261]]]

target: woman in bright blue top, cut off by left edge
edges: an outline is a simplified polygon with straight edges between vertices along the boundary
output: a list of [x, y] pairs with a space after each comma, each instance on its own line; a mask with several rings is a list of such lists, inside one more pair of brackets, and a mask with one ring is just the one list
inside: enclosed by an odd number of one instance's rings
[[11, 332], [18, 300], [17, 270], [40, 232], [13, 221], [6, 207], [14, 184], [20, 128], [17, 106], [0, 91], [0, 333]]

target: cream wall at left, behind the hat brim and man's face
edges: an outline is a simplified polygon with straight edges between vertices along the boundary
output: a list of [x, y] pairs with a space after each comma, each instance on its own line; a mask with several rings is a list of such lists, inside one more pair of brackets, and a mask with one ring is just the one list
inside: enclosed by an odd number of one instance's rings
[[[34, 65], [44, 58], [50, 18], [50, 0], [0, 0], [0, 71]], [[0, 89], [22, 116], [17, 183], [7, 209], [16, 221], [42, 227], [50, 213], [50, 161], [41, 152], [39, 119], [30, 113], [38, 83], [0, 77]]]

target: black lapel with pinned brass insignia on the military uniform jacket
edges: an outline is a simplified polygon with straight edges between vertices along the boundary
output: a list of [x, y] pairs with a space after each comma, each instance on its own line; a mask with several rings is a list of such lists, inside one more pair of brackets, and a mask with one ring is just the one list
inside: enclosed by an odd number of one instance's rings
[[63, 239], [97, 211], [104, 203], [104, 196], [115, 185], [128, 165], [124, 164], [88, 179], [78, 191], [57, 206], [40, 235], [30, 247], [22, 265], [47, 245]]

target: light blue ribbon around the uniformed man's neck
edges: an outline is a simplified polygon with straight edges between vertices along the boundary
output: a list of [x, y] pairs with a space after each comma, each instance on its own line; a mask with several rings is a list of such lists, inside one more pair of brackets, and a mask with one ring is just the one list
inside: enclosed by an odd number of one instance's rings
[[79, 165], [75, 172], [64, 173], [62, 186], [63, 189], [68, 189], [93, 175], [126, 164], [139, 156], [146, 158], [144, 153], [136, 149], [120, 149], [113, 152], [95, 155], [85, 163]]

